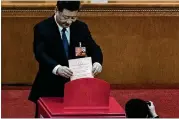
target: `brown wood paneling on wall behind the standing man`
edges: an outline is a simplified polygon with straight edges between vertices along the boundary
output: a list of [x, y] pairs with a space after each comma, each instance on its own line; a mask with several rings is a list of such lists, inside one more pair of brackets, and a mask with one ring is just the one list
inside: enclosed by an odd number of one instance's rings
[[[88, 8], [88, 9], [87, 9]], [[98, 76], [123, 86], [179, 84], [179, 9], [84, 7], [85, 21], [104, 54]], [[2, 83], [31, 84], [37, 72], [33, 26], [53, 9], [2, 11]]]

